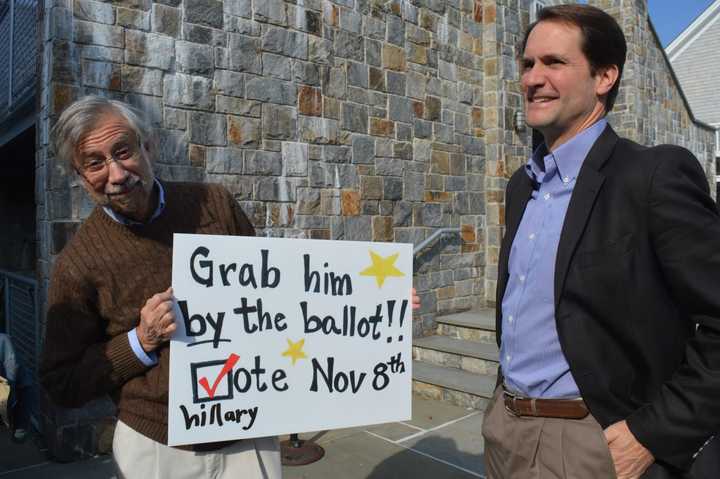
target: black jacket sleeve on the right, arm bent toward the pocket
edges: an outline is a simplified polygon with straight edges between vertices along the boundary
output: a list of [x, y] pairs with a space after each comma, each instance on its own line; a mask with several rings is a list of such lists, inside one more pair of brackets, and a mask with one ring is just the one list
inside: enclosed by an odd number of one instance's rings
[[695, 157], [659, 148], [648, 198], [650, 239], [673, 299], [696, 332], [681, 367], [627, 423], [656, 459], [686, 469], [720, 432], [720, 217]]

